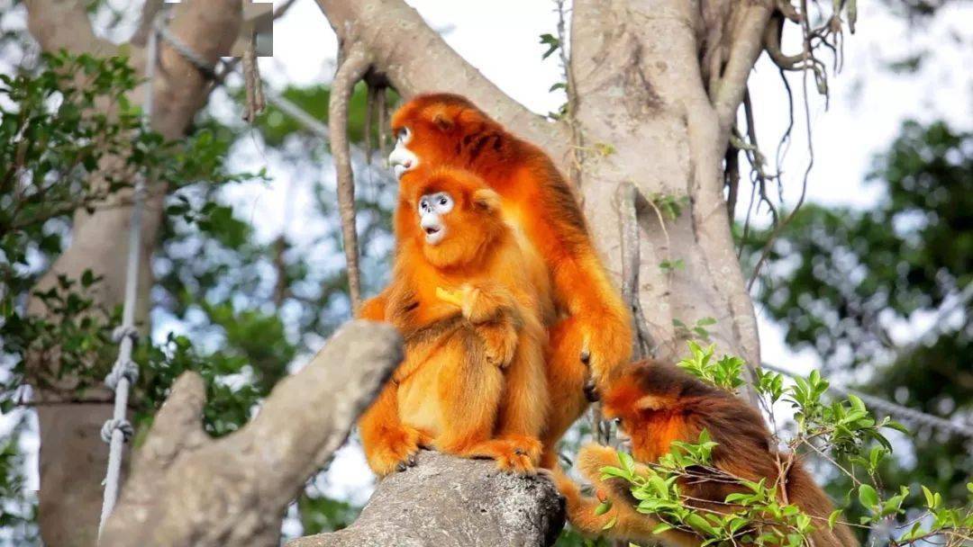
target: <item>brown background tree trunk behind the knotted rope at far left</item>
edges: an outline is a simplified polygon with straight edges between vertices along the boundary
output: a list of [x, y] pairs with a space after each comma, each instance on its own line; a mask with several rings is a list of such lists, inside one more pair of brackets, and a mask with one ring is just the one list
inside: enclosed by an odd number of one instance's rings
[[[154, 5], [148, 2], [148, 5]], [[75, 54], [91, 53], [109, 56], [118, 48], [97, 38], [82, 0], [27, 0], [27, 23], [31, 34], [45, 51], [65, 49]], [[170, 31], [203, 58], [215, 62], [229, 51], [240, 20], [239, 0], [184, 2], [173, 6]], [[132, 64], [144, 74], [144, 48], [129, 49]], [[190, 122], [203, 105], [207, 80], [191, 63], [171, 48], [162, 45], [159, 69], [156, 71], [153, 128], [168, 139], [185, 134]], [[141, 104], [144, 90], [131, 93], [130, 101]], [[110, 162], [111, 158], [106, 161]], [[142, 249], [139, 275], [139, 298], [136, 322], [148, 332], [148, 293], [152, 287], [150, 256], [162, 221], [165, 188], [151, 188], [142, 221]], [[78, 211], [72, 226], [71, 247], [54, 261], [38, 282], [36, 290], [44, 291], [56, 283], [57, 276], [77, 279], [90, 269], [103, 277], [90, 294], [95, 303], [106, 309], [122, 304], [125, 293], [126, 242], [131, 218], [131, 194], [113, 196], [110, 203], [92, 214]], [[30, 312], [41, 314], [43, 305], [32, 300]], [[29, 359], [28, 359], [29, 362]], [[56, 369], [57, 363], [44, 363], [44, 374]], [[66, 378], [70, 387], [77, 379]], [[41, 536], [48, 547], [93, 545], [101, 507], [101, 481], [105, 475], [108, 447], [101, 441], [99, 428], [111, 416], [110, 404], [94, 404], [111, 396], [107, 389], [96, 387], [77, 395], [72, 390], [35, 390], [35, 400], [43, 401], [39, 412], [42, 449], [40, 454], [41, 491], [39, 519]], [[69, 493], [65, 495], [65, 493]]]

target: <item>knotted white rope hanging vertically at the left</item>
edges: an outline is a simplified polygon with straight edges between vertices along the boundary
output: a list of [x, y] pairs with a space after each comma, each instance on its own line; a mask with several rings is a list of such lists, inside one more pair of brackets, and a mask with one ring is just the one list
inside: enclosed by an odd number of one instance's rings
[[[160, 16], [156, 20], [160, 20]], [[152, 123], [153, 84], [155, 83], [156, 63], [159, 54], [158, 33], [149, 33], [149, 43], [146, 47], [145, 67], [145, 97], [142, 115], [145, 122]], [[119, 344], [119, 357], [112, 367], [112, 371], [105, 377], [105, 385], [115, 391], [115, 409], [112, 418], [101, 427], [101, 438], [108, 443], [108, 472], [105, 474], [105, 494], [101, 504], [101, 520], [98, 523], [98, 535], [105, 527], [105, 521], [112, 514], [115, 502], [119, 497], [119, 477], [122, 471], [122, 450], [125, 442], [131, 438], [132, 427], [126, 419], [128, 407], [128, 391], [138, 379], [138, 366], [131, 360], [131, 350], [138, 339], [135, 328], [135, 305], [138, 297], [138, 270], [142, 244], [142, 209], [145, 201], [145, 178], [135, 179], [132, 194], [131, 223], [128, 226], [128, 262], [126, 264], [125, 303], [122, 311], [122, 325], [114, 332], [114, 339]]]

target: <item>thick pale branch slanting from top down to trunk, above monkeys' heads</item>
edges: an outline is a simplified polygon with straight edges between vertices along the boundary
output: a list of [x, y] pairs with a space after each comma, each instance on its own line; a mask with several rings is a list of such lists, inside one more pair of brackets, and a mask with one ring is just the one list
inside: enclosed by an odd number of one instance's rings
[[559, 160], [567, 157], [567, 128], [511, 99], [453, 51], [402, 0], [317, 0], [342, 46], [366, 48], [375, 69], [405, 98], [423, 91], [468, 96], [491, 116]]

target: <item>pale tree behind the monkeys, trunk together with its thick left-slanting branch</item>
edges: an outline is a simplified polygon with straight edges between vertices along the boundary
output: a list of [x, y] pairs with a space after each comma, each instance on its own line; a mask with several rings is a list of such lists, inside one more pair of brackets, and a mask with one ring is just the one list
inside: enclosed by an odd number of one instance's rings
[[[638, 189], [638, 297], [660, 357], [684, 351], [703, 318], [720, 351], [760, 357], [722, 195], [722, 159], [749, 71], [762, 51], [768, 0], [577, 0], [570, 72], [574, 120], [527, 111], [466, 63], [402, 0], [317, 0], [338, 33], [408, 99], [422, 91], [470, 97], [544, 148], [573, 181], [605, 263], [621, 284], [619, 185]], [[576, 130], [569, 127], [573, 121]], [[580, 142], [572, 142], [572, 134]], [[580, 150], [581, 164], [573, 164]], [[688, 200], [674, 221], [650, 202]], [[665, 224], [665, 225], [662, 225]], [[682, 259], [664, 271], [660, 262]]]

